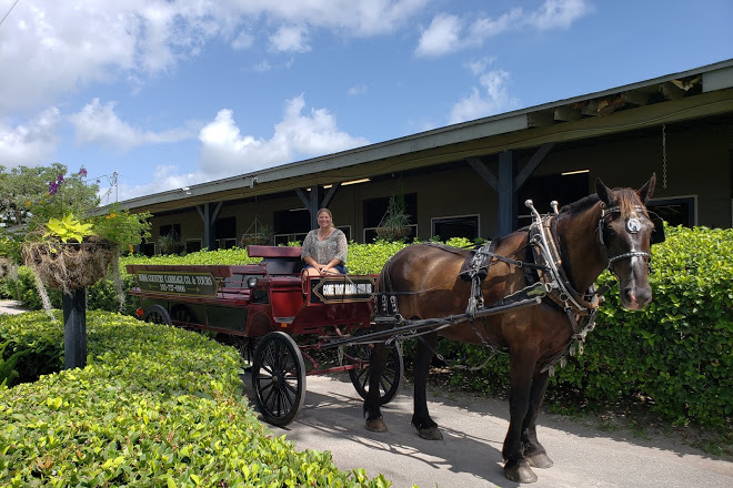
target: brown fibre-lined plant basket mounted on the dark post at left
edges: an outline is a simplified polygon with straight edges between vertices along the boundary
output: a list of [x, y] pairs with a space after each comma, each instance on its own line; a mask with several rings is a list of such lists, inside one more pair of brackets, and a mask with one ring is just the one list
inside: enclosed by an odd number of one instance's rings
[[81, 243], [27, 243], [22, 250], [26, 265], [41, 282], [68, 295], [107, 276], [118, 253], [117, 244], [97, 236], [84, 237]]

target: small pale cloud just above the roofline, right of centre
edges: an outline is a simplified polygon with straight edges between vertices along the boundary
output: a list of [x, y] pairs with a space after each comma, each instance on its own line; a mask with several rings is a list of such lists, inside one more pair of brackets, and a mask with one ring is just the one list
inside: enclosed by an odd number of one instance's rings
[[453, 105], [450, 123], [481, 119], [516, 109], [519, 100], [509, 94], [506, 88], [509, 79], [510, 75], [504, 70], [482, 73], [479, 78], [479, 87], [472, 87], [471, 94]]

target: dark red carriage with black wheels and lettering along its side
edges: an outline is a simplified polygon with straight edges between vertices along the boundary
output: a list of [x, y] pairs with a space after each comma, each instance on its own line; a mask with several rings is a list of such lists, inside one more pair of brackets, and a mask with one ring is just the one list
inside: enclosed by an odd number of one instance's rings
[[[363, 397], [369, 388], [374, 275], [301, 277], [301, 248], [251, 245], [248, 265], [128, 265], [147, 322], [209, 331], [237, 346], [251, 365], [263, 419], [290, 424], [305, 398], [305, 377], [348, 372]], [[335, 350], [333, 354], [319, 354]], [[323, 363], [328, 363], [324, 365]], [[402, 349], [392, 344], [380, 398], [398, 394]]]

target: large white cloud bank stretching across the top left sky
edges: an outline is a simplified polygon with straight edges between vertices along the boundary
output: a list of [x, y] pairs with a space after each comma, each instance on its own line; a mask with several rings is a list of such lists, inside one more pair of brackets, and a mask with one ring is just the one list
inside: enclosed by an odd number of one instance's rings
[[305, 52], [308, 32], [317, 29], [348, 37], [394, 32], [428, 1], [24, 0], [2, 24], [0, 116], [93, 82], [144, 82], [211, 39], [248, 49], [261, 35], [280, 51]]

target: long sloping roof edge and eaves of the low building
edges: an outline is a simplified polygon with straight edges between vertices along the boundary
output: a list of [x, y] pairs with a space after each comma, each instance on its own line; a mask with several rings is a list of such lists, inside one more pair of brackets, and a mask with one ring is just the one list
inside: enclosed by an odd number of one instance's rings
[[[733, 112], [733, 59], [572, 99], [120, 202], [160, 212]], [[634, 109], [634, 110], [630, 110]], [[613, 118], [608, 116], [614, 114]], [[98, 209], [103, 212], [104, 207]]]

